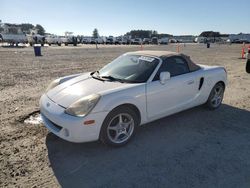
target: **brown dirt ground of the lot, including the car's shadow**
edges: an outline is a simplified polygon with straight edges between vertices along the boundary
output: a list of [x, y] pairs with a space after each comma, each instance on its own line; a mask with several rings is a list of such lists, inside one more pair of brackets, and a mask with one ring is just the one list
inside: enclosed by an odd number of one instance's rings
[[[73, 144], [23, 120], [55, 78], [94, 71], [139, 46], [0, 47], [0, 187], [250, 187], [250, 75], [240, 45], [181, 46], [196, 63], [225, 66], [223, 105], [157, 120], [122, 148]], [[144, 49], [176, 51], [175, 45]]]

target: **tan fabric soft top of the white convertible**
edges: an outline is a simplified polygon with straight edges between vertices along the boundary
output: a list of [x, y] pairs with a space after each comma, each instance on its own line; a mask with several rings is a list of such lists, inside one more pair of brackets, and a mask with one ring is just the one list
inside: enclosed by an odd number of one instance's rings
[[135, 52], [128, 52], [127, 54], [131, 55], [144, 55], [144, 56], [155, 56], [159, 57], [161, 59], [165, 59], [167, 57], [171, 56], [180, 56], [184, 59], [186, 59], [190, 71], [196, 71], [200, 69], [200, 66], [195, 64], [189, 56], [182, 54], [182, 53], [176, 53], [171, 51], [153, 51], [153, 50], [143, 50], [143, 51], [135, 51]]

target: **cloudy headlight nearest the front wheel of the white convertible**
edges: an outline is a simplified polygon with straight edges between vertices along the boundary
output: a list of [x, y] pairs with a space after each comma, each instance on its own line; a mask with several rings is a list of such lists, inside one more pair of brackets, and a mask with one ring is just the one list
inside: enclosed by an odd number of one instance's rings
[[72, 116], [84, 117], [95, 107], [100, 98], [101, 96], [98, 94], [83, 97], [70, 105], [65, 110], [65, 113]]

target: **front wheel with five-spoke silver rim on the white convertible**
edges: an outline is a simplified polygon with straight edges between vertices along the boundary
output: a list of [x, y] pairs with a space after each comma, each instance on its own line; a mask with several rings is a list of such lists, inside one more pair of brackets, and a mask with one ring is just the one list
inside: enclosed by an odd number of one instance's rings
[[134, 110], [122, 106], [112, 110], [105, 118], [100, 140], [110, 146], [123, 146], [134, 136], [139, 125], [139, 117]]

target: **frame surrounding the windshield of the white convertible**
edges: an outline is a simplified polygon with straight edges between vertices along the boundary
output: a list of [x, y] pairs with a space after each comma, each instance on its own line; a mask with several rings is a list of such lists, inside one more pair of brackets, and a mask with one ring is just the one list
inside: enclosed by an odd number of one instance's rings
[[[129, 80], [127, 80], [127, 81], [126, 81], [126, 80], [123, 80], [123, 82], [121, 82], [121, 83], [143, 84], [143, 83], [151, 82], [151, 81], [153, 80], [153, 78], [154, 78], [154, 75], [157, 73], [159, 67], [160, 67], [161, 64], [162, 64], [162, 59], [161, 59], [160, 57], [153, 56], [153, 55], [140, 54], [140, 53], [138, 53], [138, 54], [131, 54], [130, 52], [125, 53], [125, 54], [122, 54], [121, 56], [133, 56], [133, 55], [135, 55], [135, 56], [143, 56], [143, 57], [155, 58], [155, 59], [158, 60], [158, 64], [156, 65], [156, 67], [155, 67], [154, 70], [152, 71], [151, 75], [149, 75], [148, 79], [145, 80], [144, 82], [130, 82]], [[115, 58], [114, 60], [118, 59], [118, 58], [121, 57], [121, 56], [118, 56], [118, 57]], [[112, 63], [114, 60], [112, 60], [110, 63]], [[109, 63], [108, 63], [108, 64], [109, 64]], [[103, 67], [107, 66], [108, 64], [104, 65]], [[101, 69], [103, 69], [103, 67], [102, 67]], [[91, 76], [92, 76], [92, 77], [93, 77], [93, 76], [96, 77], [96, 79], [98, 79], [98, 80], [102, 80], [102, 76], [99, 76], [99, 74], [96, 75], [96, 73], [97, 73], [97, 72], [99, 73], [99, 71], [100, 71], [101, 69], [99, 69], [98, 71], [93, 72], [93, 74], [92, 74]], [[102, 80], [102, 81], [110, 81], [110, 80], [104, 79], [104, 80]], [[114, 80], [113, 80], [113, 81], [114, 81]]]

